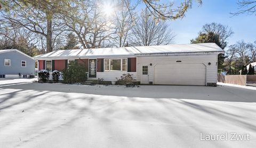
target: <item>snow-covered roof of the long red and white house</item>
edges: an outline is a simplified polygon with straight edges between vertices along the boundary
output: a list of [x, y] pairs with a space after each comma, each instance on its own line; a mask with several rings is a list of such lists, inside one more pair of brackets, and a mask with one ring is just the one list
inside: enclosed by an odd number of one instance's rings
[[35, 56], [35, 59], [71, 59], [77, 57], [117, 57], [151, 54], [223, 53], [215, 43], [172, 44], [159, 46], [135, 46], [121, 48], [93, 48], [82, 50], [59, 50]]

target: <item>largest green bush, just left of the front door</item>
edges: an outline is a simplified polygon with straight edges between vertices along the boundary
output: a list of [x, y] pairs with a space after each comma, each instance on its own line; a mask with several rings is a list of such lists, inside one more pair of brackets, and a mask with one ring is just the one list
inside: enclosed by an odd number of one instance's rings
[[64, 83], [83, 83], [87, 80], [87, 73], [83, 64], [78, 64], [77, 61], [68, 64], [68, 68], [62, 71]]

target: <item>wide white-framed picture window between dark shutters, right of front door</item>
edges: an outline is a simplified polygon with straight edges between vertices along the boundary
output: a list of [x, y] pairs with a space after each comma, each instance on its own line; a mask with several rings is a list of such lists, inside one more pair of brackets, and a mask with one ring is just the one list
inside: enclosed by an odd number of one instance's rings
[[104, 59], [105, 71], [127, 71], [127, 59]]

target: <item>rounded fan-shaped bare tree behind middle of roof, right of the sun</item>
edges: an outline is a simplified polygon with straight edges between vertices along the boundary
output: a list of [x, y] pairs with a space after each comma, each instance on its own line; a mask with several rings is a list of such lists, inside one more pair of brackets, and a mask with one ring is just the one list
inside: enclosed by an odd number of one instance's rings
[[175, 35], [163, 21], [154, 20], [143, 12], [132, 29], [133, 44], [137, 46], [167, 45], [173, 43]]

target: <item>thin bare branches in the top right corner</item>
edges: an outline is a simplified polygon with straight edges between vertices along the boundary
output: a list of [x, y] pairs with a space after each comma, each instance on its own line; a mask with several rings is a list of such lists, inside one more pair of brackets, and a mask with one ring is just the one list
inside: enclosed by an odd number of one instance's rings
[[238, 5], [238, 11], [230, 14], [239, 15], [239, 14], [247, 13], [251, 15], [256, 12], [255, 0], [238, 0], [237, 5]]

